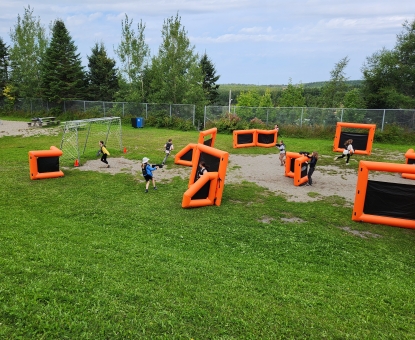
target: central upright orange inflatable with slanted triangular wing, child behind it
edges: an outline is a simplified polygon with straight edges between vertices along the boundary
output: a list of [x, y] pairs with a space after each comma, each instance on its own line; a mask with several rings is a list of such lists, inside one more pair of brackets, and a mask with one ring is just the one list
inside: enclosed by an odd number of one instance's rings
[[[228, 158], [229, 153], [225, 151], [197, 144], [193, 154], [188, 190], [183, 195], [183, 208], [221, 204]], [[197, 179], [200, 162], [206, 163], [208, 172]]]

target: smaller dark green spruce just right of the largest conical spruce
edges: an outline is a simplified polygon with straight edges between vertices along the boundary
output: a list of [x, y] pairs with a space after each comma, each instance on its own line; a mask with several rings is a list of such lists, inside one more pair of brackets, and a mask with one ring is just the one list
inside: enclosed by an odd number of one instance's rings
[[115, 60], [107, 55], [104, 44], [96, 43], [88, 56], [88, 96], [90, 100], [112, 101], [119, 89]]

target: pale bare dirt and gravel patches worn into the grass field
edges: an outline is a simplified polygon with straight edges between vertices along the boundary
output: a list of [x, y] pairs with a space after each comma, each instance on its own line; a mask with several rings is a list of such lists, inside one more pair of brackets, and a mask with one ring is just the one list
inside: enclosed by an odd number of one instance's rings
[[[39, 128], [28, 127], [25, 122], [1, 121], [0, 138], [3, 136], [34, 136], [40, 134], [59, 134], [59, 127]], [[229, 155], [228, 169], [225, 178], [226, 183], [238, 184], [243, 181], [253, 182], [268, 190], [283, 195], [289, 201], [309, 202], [329, 196], [339, 196], [346, 200], [347, 204], [353, 204], [357, 182], [357, 161], [351, 158], [350, 166], [343, 166], [344, 160], [333, 161], [331, 155], [320, 155], [320, 159], [330, 158], [332, 165], [319, 166], [313, 174], [313, 186], [294, 186], [293, 179], [284, 176], [284, 167], [280, 166], [277, 150], [273, 155]], [[401, 155], [402, 162], [404, 156]], [[160, 160], [150, 160], [157, 163]], [[141, 160], [133, 161], [123, 157], [108, 158], [110, 168], [99, 159], [87, 161], [81, 164], [79, 171], [100, 171], [104, 173], [129, 173], [137, 176], [144, 182], [141, 176]], [[176, 176], [189, 178], [189, 167], [171, 167], [174, 156], [170, 156], [167, 165], [154, 172], [156, 181], [168, 182]], [[341, 166], [340, 166], [341, 165]], [[65, 169], [63, 169], [65, 170]], [[371, 179], [379, 181], [414, 184], [414, 181], [403, 179], [400, 174], [375, 173]]]

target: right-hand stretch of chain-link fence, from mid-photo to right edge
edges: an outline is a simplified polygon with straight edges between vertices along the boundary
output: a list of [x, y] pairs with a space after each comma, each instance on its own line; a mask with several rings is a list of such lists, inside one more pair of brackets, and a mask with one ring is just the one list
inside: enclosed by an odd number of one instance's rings
[[[249, 122], [254, 118], [268, 125], [335, 126], [337, 122], [376, 124], [383, 131], [387, 124], [415, 130], [415, 110], [404, 109], [349, 109], [315, 107], [246, 107], [231, 106], [230, 112]], [[229, 106], [206, 106], [204, 127], [209, 122], [229, 113]]]

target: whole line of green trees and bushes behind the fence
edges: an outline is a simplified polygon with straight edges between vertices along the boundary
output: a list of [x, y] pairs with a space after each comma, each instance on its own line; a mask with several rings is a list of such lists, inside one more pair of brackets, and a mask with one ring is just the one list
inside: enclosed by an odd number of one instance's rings
[[[0, 37], [0, 99], [128, 101], [141, 103], [326, 108], [415, 107], [415, 20], [405, 21], [393, 49], [366, 58], [362, 80], [350, 81], [345, 73], [349, 58], [334, 65], [330, 80], [315, 86], [241, 86], [218, 84], [214, 63], [206, 53], [195, 52], [181, 18], [164, 20], [162, 42], [151, 55], [145, 42], [146, 25], [125, 14], [121, 41], [110, 58], [104, 42], [95, 43], [81, 64], [77, 47], [62, 20], [50, 25], [50, 39], [40, 18], [29, 6], [10, 30], [11, 46]], [[236, 88], [236, 90], [235, 90]]]

